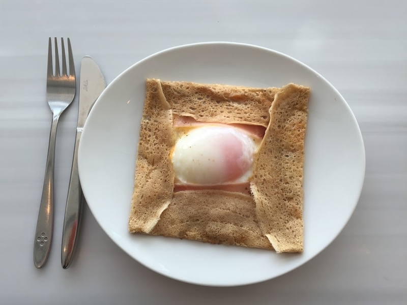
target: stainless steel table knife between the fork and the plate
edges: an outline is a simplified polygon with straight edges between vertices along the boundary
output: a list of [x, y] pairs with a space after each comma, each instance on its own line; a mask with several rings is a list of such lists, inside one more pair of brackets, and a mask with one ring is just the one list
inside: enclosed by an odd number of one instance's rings
[[82, 205], [85, 203], [78, 174], [78, 147], [80, 136], [89, 111], [105, 88], [106, 82], [99, 66], [92, 57], [83, 57], [80, 65], [79, 110], [75, 149], [62, 231], [61, 264], [64, 269], [68, 268], [72, 262], [78, 238]]

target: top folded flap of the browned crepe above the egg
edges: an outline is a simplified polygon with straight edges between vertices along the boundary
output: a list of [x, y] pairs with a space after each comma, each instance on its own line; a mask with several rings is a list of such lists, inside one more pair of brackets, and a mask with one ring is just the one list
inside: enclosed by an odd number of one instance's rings
[[269, 108], [279, 88], [162, 81], [174, 114], [207, 123], [242, 123], [267, 127]]

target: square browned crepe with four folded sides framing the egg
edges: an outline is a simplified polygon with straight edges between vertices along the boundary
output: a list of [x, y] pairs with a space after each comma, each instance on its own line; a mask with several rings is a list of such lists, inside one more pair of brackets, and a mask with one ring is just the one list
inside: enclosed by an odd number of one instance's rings
[[[147, 79], [129, 231], [276, 252], [303, 251], [303, 161], [309, 88], [250, 88]], [[203, 103], [202, 101], [205, 101]], [[225, 111], [229, 113], [224, 115]], [[173, 115], [266, 127], [251, 195], [174, 193]]]

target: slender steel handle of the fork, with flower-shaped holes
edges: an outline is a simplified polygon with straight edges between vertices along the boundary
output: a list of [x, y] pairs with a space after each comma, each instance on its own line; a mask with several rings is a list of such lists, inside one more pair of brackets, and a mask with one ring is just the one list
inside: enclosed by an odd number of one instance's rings
[[41, 268], [49, 254], [52, 241], [53, 226], [53, 189], [56, 129], [60, 114], [52, 115], [51, 132], [49, 135], [48, 156], [45, 166], [44, 186], [42, 189], [40, 211], [38, 212], [37, 228], [34, 239], [34, 265]]

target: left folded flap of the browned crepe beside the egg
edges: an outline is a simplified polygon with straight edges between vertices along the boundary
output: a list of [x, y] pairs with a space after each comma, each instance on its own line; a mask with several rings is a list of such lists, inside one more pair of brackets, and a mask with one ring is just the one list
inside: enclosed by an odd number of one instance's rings
[[137, 148], [130, 232], [150, 233], [171, 202], [174, 172], [168, 151], [174, 143], [172, 111], [161, 83], [149, 80]]

